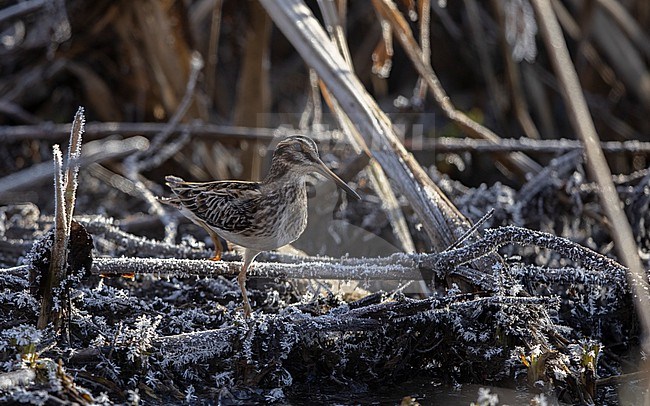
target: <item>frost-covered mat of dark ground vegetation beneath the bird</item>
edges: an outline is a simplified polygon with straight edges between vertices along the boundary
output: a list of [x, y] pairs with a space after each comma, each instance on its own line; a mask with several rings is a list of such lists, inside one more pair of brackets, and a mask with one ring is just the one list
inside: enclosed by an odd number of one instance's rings
[[[581, 168], [576, 162], [569, 178], [584, 179], [577, 175]], [[598, 231], [602, 225], [593, 216], [576, 215], [575, 205], [558, 199], [580, 199], [581, 207], [589, 207], [595, 200], [590, 184], [549, 179], [556, 180], [526, 199], [517, 200], [517, 193], [499, 185], [465, 189], [457, 199], [468, 213], [495, 208], [489, 227], [566, 224], [561, 228], [564, 237], [585, 246], [602, 245], [594, 239], [604, 235]], [[638, 179], [622, 179], [624, 201], [635, 201], [629, 193]], [[454, 193], [453, 183], [442, 184]], [[358, 204], [366, 206], [364, 211], [381, 210], [369, 201]], [[351, 211], [339, 215], [354, 216], [353, 204], [346, 210]], [[487, 279], [463, 270], [463, 265], [441, 263], [456, 261], [453, 255], [364, 260], [267, 254], [257, 274], [266, 279], [251, 289], [256, 312], [247, 320], [238, 309], [233, 276], [239, 262], [230, 262], [235, 255], [222, 264], [191, 259], [209, 256], [203, 243], [168, 244], [121, 231], [118, 221], [96, 216], [77, 217], [93, 235], [95, 264], [70, 282], [69, 302], [61, 304], [64, 333], [55, 334], [52, 325], [35, 327], [40, 302], [37, 281], [30, 282], [29, 276], [35, 264], [47, 261], [52, 218], [39, 215], [33, 206], [8, 206], [2, 213], [3, 241], [16, 248], [3, 251], [2, 262], [13, 267], [2, 270], [0, 279], [0, 383], [5, 400], [286, 401], [314, 385], [364, 393], [420, 374], [454, 385], [528, 382], [552, 398], [561, 388], [565, 398], [578, 399], [598, 395], [598, 377], [621, 374], [621, 357], [629, 357], [637, 343], [625, 268], [551, 234], [527, 236], [530, 245], [521, 246], [526, 238], [508, 235], [526, 236], [524, 229], [486, 233], [486, 241], [493, 234], [506, 235], [503, 243], [490, 243], [493, 248], [515, 243], [500, 250], [511, 259]], [[522, 224], [522, 219], [528, 220]], [[581, 232], [585, 227], [593, 230], [589, 237]], [[642, 243], [645, 236], [639, 238]], [[190, 259], [181, 265], [177, 259], [158, 259], [158, 264], [145, 259], [156, 252], [162, 258]], [[142, 269], [138, 254], [149, 271]], [[130, 259], [124, 261], [123, 255]], [[117, 268], [135, 278], [99, 276], [111, 258], [121, 265], [110, 267], [109, 273]], [[167, 267], [167, 261], [174, 265]], [[432, 272], [434, 296], [405, 295], [402, 286], [355, 299], [330, 289], [313, 290], [282, 273], [284, 265], [296, 267], [287, 271], [292, 277], [301, 269], [314, 275], [330, 269], [330, 278], [366, 279], [371, 288], [367, 275], [390, 264], [398, 270], [410, 264], [412, 270]], [[310, 271], [312, 266], [315, 271]], [[355, 272], [357, 268], [363, 272]], [[467, 293], [458, 284], [482, 290]], [[598, 396], [607, 397], [607, 387]]]

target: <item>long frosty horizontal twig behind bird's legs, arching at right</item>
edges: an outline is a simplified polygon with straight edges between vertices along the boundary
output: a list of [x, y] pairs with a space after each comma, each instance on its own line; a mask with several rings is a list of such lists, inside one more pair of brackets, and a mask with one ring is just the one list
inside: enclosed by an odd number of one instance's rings
[[[624, 275], [625, 268], [616, 261], [565, 238], [519, 227], [486, 230], [485, 236], [467, 246], [438, 254], [394, 254], [382, 258], [289, 257], [290, 262], [256, 262], [251, 277], [307, 278], [339, 280], [421, 280], [422, 270], [432, 270], [438, 277], [462, 276], [481, 288], [494, 288], [482, 275], [465, 269], [467, 264], [507, 244], [537, 246], [554, 250], [586, 269]], [[273, 255], [273, 254], [269, 254]], [[270, 260], [272, 257], [261, 258]], [[286, 260], [279, 257], [277, 260]], [[241, 265], [235, 261], [157, 258], [96, 258], [93, 274], [164, 274], [197, 276], [235, 276]], [[622, 281], [619, 280], [619, 283]]]

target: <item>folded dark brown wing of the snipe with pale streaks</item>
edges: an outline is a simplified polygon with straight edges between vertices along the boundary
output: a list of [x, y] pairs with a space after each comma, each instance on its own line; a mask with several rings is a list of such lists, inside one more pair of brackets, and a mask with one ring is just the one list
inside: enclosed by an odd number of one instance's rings
[[255, 201], [261, 196], [258, 183], [166, 179], [176, 195], [169, 203], [185, 207], [209, 226], [232, 233], [241, 233], [253, 226]]

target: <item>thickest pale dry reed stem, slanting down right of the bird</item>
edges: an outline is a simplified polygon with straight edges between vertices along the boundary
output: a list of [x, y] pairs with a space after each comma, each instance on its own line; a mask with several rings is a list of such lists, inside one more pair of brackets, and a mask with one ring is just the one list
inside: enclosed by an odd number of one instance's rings
[[364, 137], [373, 157], [393, 179], [422, 221], [435, 249], [471, 227], [402, 145], [388, 117], [347, 67], [311, 10], [299, 0], [262, 0], [276, 25], [314, 68]]

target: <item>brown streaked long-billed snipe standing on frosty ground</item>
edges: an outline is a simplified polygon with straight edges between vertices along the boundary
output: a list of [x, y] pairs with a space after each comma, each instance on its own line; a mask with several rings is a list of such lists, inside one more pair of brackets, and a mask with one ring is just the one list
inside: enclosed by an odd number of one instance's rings
[[261, 251], [274, 250], [295, 241], [307, 226], [305, 178], [320, 173], [359, 199], [359, 195], [325, 166], [316, 144], [304, 136], [281, 141], [262, 182], [216, 181], [185, 182], [167, 176], [174, 197], [164, 203], [178, 208], [185, 217], [204, 228], [221, 258], [219, 236], [244, 247], [244, 263], [237, 277], [244, 299], [244, 312], [251, 312], [246, 295], [246, 270]]

